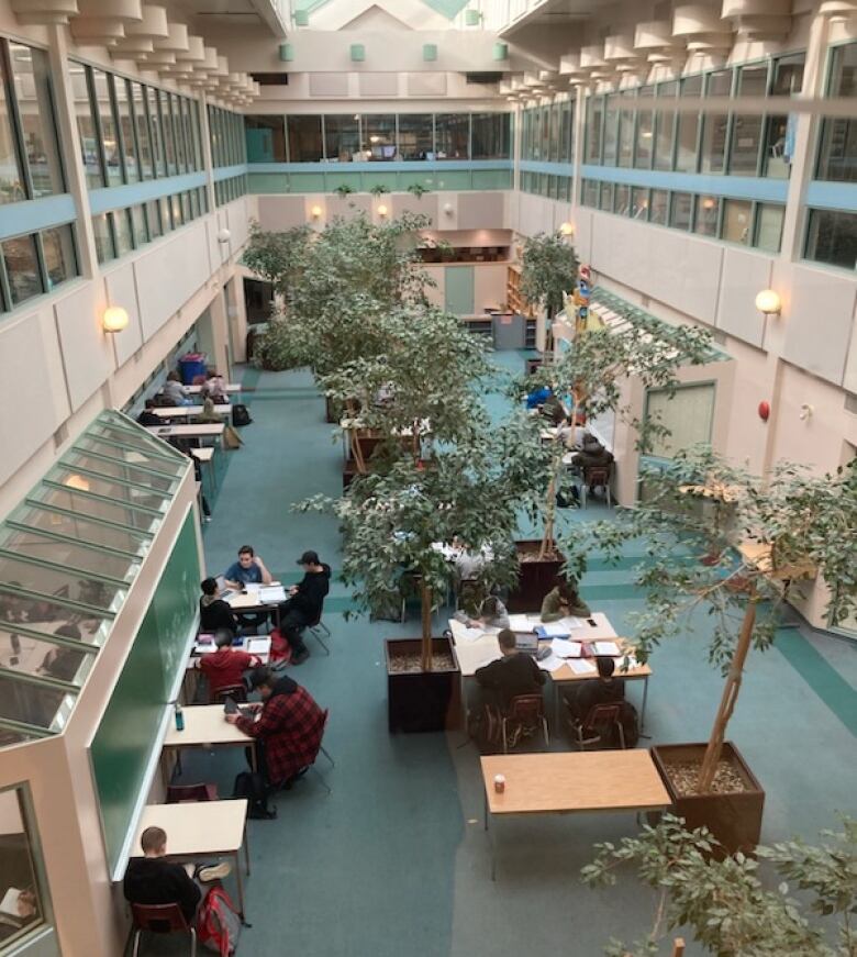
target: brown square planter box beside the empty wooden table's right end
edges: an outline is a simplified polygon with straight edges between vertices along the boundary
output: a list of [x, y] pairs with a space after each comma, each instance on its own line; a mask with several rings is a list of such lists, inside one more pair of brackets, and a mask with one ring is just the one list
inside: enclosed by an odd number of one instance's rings
[[676, 761], [698, 761], [702, 765], [704, 744], [653, 745], [652, 757], [672, 799], [671, 812], [685, 819], [689, 830], [711, 831], [728, 854], [752, 854], [761, 837], [761, 813], [765, 791], [731, 742], [723, 745], [721, 760], [727, 760], [743, 779], [746, 790], [731, 794], [680, 795], [669, 777], [669, 766]]

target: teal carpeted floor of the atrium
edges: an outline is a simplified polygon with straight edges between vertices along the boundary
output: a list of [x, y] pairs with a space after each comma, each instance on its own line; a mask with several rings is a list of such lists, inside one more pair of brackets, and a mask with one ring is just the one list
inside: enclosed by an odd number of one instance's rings
[[[498, 361], [516, 371], [520, 354]], [[291, 502], [341, 487], [342, 449], [324, 423], [324, 405], [307, 372], [245, 370], [254, 423], [245, 446], [227, 454], [213, 521], [205, 527], [209, 570], [221, 572], [244, 543], [271, 572], [293, 580], [296, 559], [315, 548], [340, 567], [335, 520], [296, 515]], [[488, 397], [493, 414], [504, 401]], [[565, 521], [603, 516], [567, 511]], [[641, 607], [631, 585], [633, 556], [617, 569], [596, 566], [583, 594], [620, 633]], [[652, 901], [633, 882], [592, 892], [578, 880], [592, 844], [635, 830], [630, 814], [501, 822], [498, 880], [489, 879], [482, 831], [478, 756], [460, 734], [390, 736], [381, 641], [414, 635], [404, 625], [345, 621], [347, 593], [334, 583], [325, 608], [333, 632], [330, 657], [313, 645], [291, 669], [331, 709], [325, 745], [336, 766], [320, 759], [332, 788], [313, 776], [277, 799], [279, 817], [249, 823], [253, 873], [241, 954], [312, 957], [597, 957], [612, 936], [633, 938], [649, 926]], [[708, 622], [697, 634], [657, 652], [646, 732], [653, 742], [703, 741], [721, 678], [705, 660]], [[783, 630], [777, 647], [749, 660], [731, 725], [767, 792], [765, 839], [812, 838], [854, 810], [857, 648], [824, 635]], [[642, 687], [630, 692], [639, 705]], [[567, 748], [557, 737], [552, 746]], [[242, 769], [235, 752], [187, 755], [183, 780], [213, 780], [229, 794]], [[232, 879], [230, 879], [232, 880]], [[183, 953], [153, 942], [145, 953]], [[688, 954], [700, 950], [689, 946]]]

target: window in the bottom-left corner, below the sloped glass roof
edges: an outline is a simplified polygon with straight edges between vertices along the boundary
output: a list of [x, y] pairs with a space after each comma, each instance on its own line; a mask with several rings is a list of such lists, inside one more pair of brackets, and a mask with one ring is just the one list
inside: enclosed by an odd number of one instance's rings
[[[47, 650], [51, 646], [46, 646]], [[4, 688], [4, 693], [21, 699], [21, 688]], [[40, 692], [42, 693], [42, 689]], [[30, 697], [27, 693], [25, 697]], [[26, 739], [21, 732], [0, 731], [0, 744], [13, 744]], [[3, 875], [3, 893], [11, 893], [11, 920], [3, 924], [3, 948], [16, 949], [15, 941], [26, 936], [35, 927], [51, 919], [47, 900], [44, 895], [40, 872], [36, 868], [38, 848], [35, 838], [33, 817], [23, 786], [0, 791], [0, 821], [3, 833], [0, 836], [0, 873]]]

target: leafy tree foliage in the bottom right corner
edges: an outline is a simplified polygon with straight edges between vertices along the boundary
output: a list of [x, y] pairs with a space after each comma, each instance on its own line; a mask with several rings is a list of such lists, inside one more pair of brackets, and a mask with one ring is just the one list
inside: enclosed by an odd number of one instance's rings
[[[772, 873], [764, 876], [750, 857], [713, 854], [717, 843], [708, 830], [689, 831], [671, 815], [617, 845], [596, 845], [596, 859], [581, 871], [588, 887], [613, 887], [616, 870], [631, 866], [656, 901], [646, 936], [631, 946], [614, 939], [604, 953], [680, 955], [683, 947], [670, 945], [668, 937], [681, 927], [717, 957], [852, 957], [857, 954], [850, 916], [857, 910], [857, 822], [846, 817], [841, 832], [821, 837], [819, 846], [789, 841], [757, 847], [756, 857], [771, 865]], [[827, 933], [832, 921], [835, 936]]]

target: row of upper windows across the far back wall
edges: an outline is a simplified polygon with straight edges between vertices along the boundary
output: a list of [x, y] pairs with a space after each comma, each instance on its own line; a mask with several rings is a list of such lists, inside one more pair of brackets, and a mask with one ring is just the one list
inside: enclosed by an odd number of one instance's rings
[[245, 116], [251, 163], [509, 159], [510, 113]]

